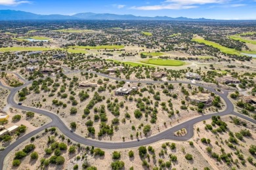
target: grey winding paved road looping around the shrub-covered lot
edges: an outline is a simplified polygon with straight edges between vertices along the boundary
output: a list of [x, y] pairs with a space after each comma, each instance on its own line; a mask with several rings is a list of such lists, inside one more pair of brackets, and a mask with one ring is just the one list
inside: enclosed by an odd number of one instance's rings
[[[111, 78], [114, 80], [121, 80], [119, 78], [104, 75], [102, 73], [89, 72], [89, 71], [86, 71], [86, 72], [87, 73], [95, 73], [97, 75], [104, 76], [106, 78]], [[68, 74], [72, 74], [72, 73], [79, 73], [79, 71], [68, 71]], [[21, 76], [19, 76], [19, 77], [21, 77]], [[162, 81], [140, 81], [140, 80], [124, 80], [124, 81], [125, 82], [152, 83], [152, 84], [163, 83]], [[224, 116], [227, 114], [233, 114], [234, 116], [239, 116], [240, 118], [244, 118], [245, 120], [248, 120], [249, 122], [256, 124], [256, 120], [253, 120], [251, 118], [248, 118], [247, 116], [244, 116], [242, 114], [238, 114], [238, 113], [234, 112], [234, 106], [232, 105], [231, 101], [228, 99], [228, 97], [227, 97], [228, 91], [226, 91], [226, 90], [224, 90], [223, 93], [221, 93], [221, 92], [217, 92], [214, 88], [203, 86], [202, 84], [193, 84], [191, 82], [184, 82], [184, 81], [168, 81], [169, 83], [192, 84], [194, 86], [200, 86], [200, 87], [203, 87], [211, 92], [214, 92], [224, 100], [224, 102], [226, 103], [226, 110], [224, 110], [223, 112], [207, 114], [207, 115], [203, 115], [203, 116], [200, 116], [197, 118], [193, 118], [192, 120], [183, 122], [177, 126], [167, 129], [166, 131], [158, 133], [157, 135], [148, 137], [146, 139], [142, 139], [140, 141], [137, 141], [136, 139], [134, 139], [134, 141], [114, 142], [114, 143], [106, 142], [106, 141], [93, 141], [91, 139], [86, 139], [84, 137], [81, 137], [81, 136], [75, 134], [74, 132], [71, 132], [70, 129], [65, 126], [64, 122], [62, 122], [62, 120], [53, 112], [49, 112], [47, 110], [36, 109], [36, 108], [32, 108], [32, 107], [26, 107], [24, 105], [17, 105], [16, 101], [14, 101], [14, 95], [19, 90], [21, 90], [22, 88], [24, 88], [26, 86], [29, 86], [32, 83], [32, 82], [29, 82], [26, 80], [24, 80], [24, 82], [25, 82], [25, 84], [23, 86], [20, 86], [18, 88], [9, 88], [9, 90], [11, 90], [11, 93], [10, 93], [9, 97], [7, 98], [7, 103], [17, 109], [32, 111], [32, 112], [36, 112], [38, 114], [43, 114], [45, 116], [49, 116], [49, 118], [52, 119], [52, 122], [45, 126], [40, 127], [39, 129], [37, 129], [35, 131], [32, 131], [31, 133], [28, 133], [27, 135], [24, 135], [20, 139], [17, 139], [17, 141], [12, 143], [10, 146], [5, 148], [5, 150], [1, 151], [0, 152], [0, 169], [3, 169], [3, 161], [5, 159], [5, 156], [7, 156], [7, 154], [9, 154], [9, 152], [11, 152], [14, 148], [16, 148], [16, 146], [18, 146], [20, 143], [26, 141], [27, 139], [30, 139], [31, 137], [33, 137], [34, 135], [36, 135], [43, 129], [51, 127], [51, 126], [58, 127], [58, 129], [60, 129], [60, 131], [63, 134], [65, 134], [68, 138], [72, 139], [73, 141], [75, 141], [77, 143], [86, 144], [89, 146], [95, 146], [98, 148], [119, 149], [119, 148], [132, 148], [132, 147], [142, 146], [142, 145], [146, 145], [146, 144], [150, 144], [150, 143], [155, 143], [162, 139], [186, 141], [186, 140], [190, 139], [191, 137], [193, 137], [193, 135], [194, 135], [194, 130], [193, 130], [194, 124], [196, 124], [198, 122], [202, 122], [203, 120], [207, 120], [207, 119], [211, 118], [211, 116], [213, 116], [213, 115], [214, 116], [218, 116], [218, 115]], [[3, 86], [3, 84], [1, 84], [1, 82], [0, 82], [0, 86]], [[3, 87], [5, 87], [5, 86], [3, 86]], [[175, 133], [175, 131], [178, 131], [179, 129], [182, 129], [182, 128], [186, 128], [188, 133], [184, 137], [175, 137], [175, 135], [173, 135]]]

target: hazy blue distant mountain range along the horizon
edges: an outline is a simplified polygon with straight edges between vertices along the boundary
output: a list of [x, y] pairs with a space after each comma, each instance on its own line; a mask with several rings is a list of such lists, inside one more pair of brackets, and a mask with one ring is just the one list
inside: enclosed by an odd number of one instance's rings
[[33, 14], [31, 12], [24, 12], [20, 10], [0, 10], [0, 20], [169, 20], [169, 21], [215, 21], [205, 18], [171, 18], [168, 16], [134, 16], [134, 15], [119, 15], [119, 14], [95, 14], [92, 12], [84, 12], [68, 15], [41, 15]]

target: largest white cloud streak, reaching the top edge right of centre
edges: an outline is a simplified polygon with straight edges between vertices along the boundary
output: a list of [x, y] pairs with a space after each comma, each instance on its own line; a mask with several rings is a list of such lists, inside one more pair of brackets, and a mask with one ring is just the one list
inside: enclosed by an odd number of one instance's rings
[[143, 7], [131, 7], [138, 10], [161, 10], [161, 9], [194, 9], [198, 5], [221, 4], [230, 0], [165, 0], [160, 5], [151, 5]]

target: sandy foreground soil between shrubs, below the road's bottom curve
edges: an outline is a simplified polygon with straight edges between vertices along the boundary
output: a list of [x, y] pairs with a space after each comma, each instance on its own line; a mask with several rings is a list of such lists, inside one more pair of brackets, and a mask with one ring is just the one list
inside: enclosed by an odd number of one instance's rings
[[[35, 139], [33, 144], [35, 144], [35, 152], [39, 154], [39, 158], [35, 161], [30, 160], [30, 155], [26, 156], [26, 158], [22, 159], [22, 163], [20, 167], [14, 168], [12, 167], [12, 160], [14, 158], [14, 153], [20, 150], [19, 148], [24, 148], [27, 144], [30, 144], [31, 141], [28, 140], [25, 143], [20, 144], [18, 148], [13, 150], [7, 158], [5, 159], [5, 169], [37, 169], [37, 167], [40, 166], [40, 160], [41, 158], [47, 158], [49, 159], [51, 156], [45, 155], [45, 148], [49, 148], [49, 144], [47, 144], [47, 137], [53, 136], [50, 132], [48, 133], [39, 133], [37, 135], [39, 138]], [[54, 137], [54, 140], [57, 142], [63, 142], [67, 144], [67, 139], [60, 139], [59, 136]], [[175, 143], [176, 148], [171, 150], [169, 146], [167, 148], [161, 148], [162, 144], [165, 143]], [[72, 144], [68, 144], [68, 148]], [[203, 158], [203, 156], [200, 154], [200, 152], [195, 148], [194, 146], [190, 146], [188, 142], [173, 142], [173, 141], [160, 141], [159, 143], [150, 144], [155, 150], [156, 158], [154, 159], [153, 153], [148, 152], [149, 159], [145, 158], [146, 161], [148, 161], [149, 168], [142, 167], [142, 160], [144, 158], [140, 158], [139, 156], [139, 150], [138, 148], [131, 148], [131, 149], [122, 149], [122, 150], [116, 150], [120, 152], [121, 158], [119, 160], [125, 162], [125, 169], [129, 169], [130, 167], [133, 167], [134, 169], [152, 169], [153, 167], [160, 167], [159, 160], [163, 160], [163, 162], [169, 161], [169, 154], [173, 154], [177, 156], [177, 161], [171, 163], [170, 169], [176, 168], [176, 169], [192, 169], [198, 168], [203, 169], [204, 167], [209, 167], [211, 169], [211, 165]], [[77, 148], [77, 147], [76, 147]], [[104, 149], [103, 149], [104, 150]], [[133, 158], [129, 158], [128, 153], [130, 150], [133, 150], [135, 156]], [[163, 150], [163, 156], [159, 156], [159, 153]], [[112, 152], [115, 150], [104, 150], [105, 156], [98, 157], [93, 156], [90, 154], [90, 152], [87, 152], [85, 150], [85, 146], [81, 145], [80, 150], [77, 150], [75, 154], [68, 154], [68, 151], [63, 151], [62, 156], [65, 158], [64, 165], [54, 165], [50, 164], [47, 169], [73, 169], [74, 165], [77, 164], [79, 166], [79, 169], [81, 169], [81, 166], [85, 160], [91, 165], [97, 167], [97, 169], [111, 169], [111, 163], [114, 161], [112, 160]], [[188, 161], [184, 158], [186, 154], [192, 154], [193, 160]], [[53, 155], [53, 154], [52, 154]], [[81, 159], [77, 160], [77, 156], [80, 156]], [[83, 156], [85, 158], [83, 159]]]

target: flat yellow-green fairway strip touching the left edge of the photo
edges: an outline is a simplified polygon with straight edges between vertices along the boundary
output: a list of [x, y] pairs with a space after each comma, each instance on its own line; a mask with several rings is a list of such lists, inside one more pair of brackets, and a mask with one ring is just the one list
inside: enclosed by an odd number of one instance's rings
[[23, 46], [0, 48], [0, 52], [48, 51], [48, 50], [58, 50], [58, 48], [23, 47]]

